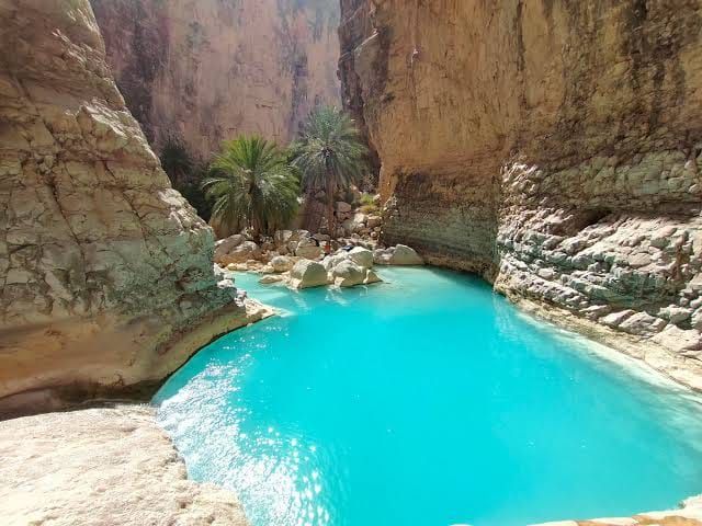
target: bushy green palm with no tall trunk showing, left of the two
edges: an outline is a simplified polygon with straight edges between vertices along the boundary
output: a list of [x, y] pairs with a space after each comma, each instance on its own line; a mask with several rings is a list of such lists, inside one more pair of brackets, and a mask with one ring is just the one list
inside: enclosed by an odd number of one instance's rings
[[297, 211], [298, 179], [285, 155], [260, 136], [223, 144], [203, 183], [214, 199], [212, 218], [229, 235], [248, 227], [253, 236], [284, 228]]

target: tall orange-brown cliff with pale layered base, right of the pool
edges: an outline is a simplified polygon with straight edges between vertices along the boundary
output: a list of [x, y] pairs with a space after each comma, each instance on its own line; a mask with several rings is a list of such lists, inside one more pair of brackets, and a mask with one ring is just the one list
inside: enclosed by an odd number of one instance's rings
[[341, 5], [385, 240], [702, 389], [702, 2]]

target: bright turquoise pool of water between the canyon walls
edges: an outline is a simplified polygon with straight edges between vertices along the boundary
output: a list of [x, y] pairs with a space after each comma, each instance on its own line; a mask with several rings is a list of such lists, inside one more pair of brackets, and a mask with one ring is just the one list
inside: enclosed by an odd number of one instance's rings
[[477, 278], [291, 293], [158, 392], [190, 476], [253, 526], [511, 526], [702, 492], [698, 401], [519, 315]]

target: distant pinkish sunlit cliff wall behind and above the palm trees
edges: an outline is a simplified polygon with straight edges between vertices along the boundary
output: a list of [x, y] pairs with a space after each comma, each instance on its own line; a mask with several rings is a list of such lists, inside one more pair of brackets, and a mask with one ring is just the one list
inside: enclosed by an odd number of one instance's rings
[[91, 0], [107, 62], [157, 147], [178, 135], [287, 141], [315, 104], [339, 105], [338, 0]]

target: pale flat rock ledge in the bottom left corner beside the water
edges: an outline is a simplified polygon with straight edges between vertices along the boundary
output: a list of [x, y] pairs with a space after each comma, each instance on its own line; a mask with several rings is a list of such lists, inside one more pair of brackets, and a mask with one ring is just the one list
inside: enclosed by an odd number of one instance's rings
[[115, 405], [0, 422], [3, 526], [246, 526], [236, 495], [188, 480], [154, 409]]

